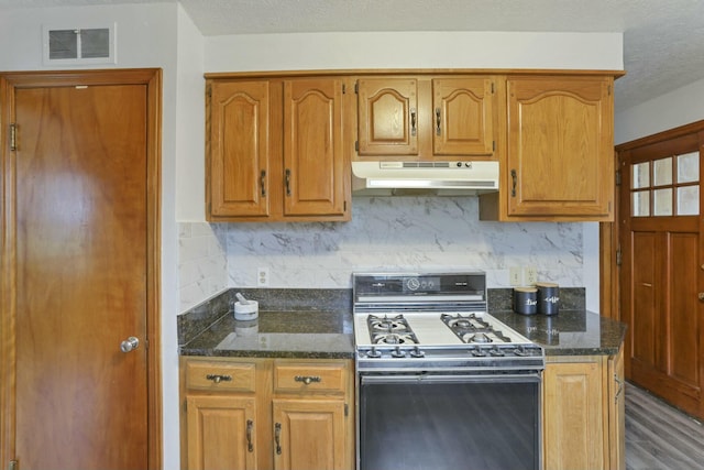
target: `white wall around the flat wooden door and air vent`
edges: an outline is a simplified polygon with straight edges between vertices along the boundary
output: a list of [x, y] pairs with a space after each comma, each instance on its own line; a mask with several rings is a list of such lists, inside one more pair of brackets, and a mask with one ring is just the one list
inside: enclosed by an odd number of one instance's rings
[[[0, 13], [0, 70], [50, 69], [42, 63], [42, 25], [91, 26], [96, 23], [117, 23], [117, 59], [110, 65], [63, 66], [61, 68], [153, 68], [163, 69], [163, 114], [162, 114], [162, 340], [163, 340], [163, 404], [164, 404], [164, 468], [179, 468], [178, 440], [178, 356], [176, 338], [176, 314], [178, 313], [178, 267], [176, 227], [176, 161], [178, 153], [190, 149], [189, 135], [180, 133], [184, 127], [182, 112], [177, 106], [194, 106], [198, 119], [202, 109], [189, 101], [189, 96], [177, 87], [195, 87], [193, 77], [177, 69], [180, 58], [194, 59], [198, 74], [202, 74], [202, 57], [188, 54], [179, 46], [177, 39], [198, 41], [200, 34], [177, 35], [177, 28], [187, 29], [187, 17], [177, 3], [125, 4], [102, 7], [62, 7], [50, 9], [2, 10]], [[191, 26], [193, 29], [193, 26]], [[195, 57], [194, 57], [195, 55]], [[58, 68], [58, 67], [53, 67]], [[193, 74], [191, 74], [193, 75]], [[190, 84], [189, 84], [190, 83]], [[182, 86], [183, 85], [183, 86]], [[196, 91], [194, 91], [196, 92]], [[201, 90], [197, 90], [200, 95]], [[188, 113], [187, 113], [188, 114]], [[179, 132], [177, 139], [177, 121]], [[202, 127], [202, 125], [200, 125]], [[196, 134], [199, 149], [202, 135]], [[178, 143], [178, 147], [177, 144]], [[198, 159], [202, 159], [199, 150]], [[180, 159], [183, 160], [183, 159]]]

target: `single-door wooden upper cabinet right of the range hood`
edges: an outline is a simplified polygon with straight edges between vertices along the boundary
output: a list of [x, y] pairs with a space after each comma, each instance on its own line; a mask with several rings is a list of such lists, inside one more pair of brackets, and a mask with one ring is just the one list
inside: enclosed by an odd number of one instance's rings
[[510, 77], [499, 208], [508, 220], [613, 219], [613, 77]]

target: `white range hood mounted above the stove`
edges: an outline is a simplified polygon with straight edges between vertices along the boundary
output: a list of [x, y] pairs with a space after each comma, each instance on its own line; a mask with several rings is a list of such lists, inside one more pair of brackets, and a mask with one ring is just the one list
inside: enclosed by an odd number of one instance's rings
[[352, 162], [355, 196], [475, 196], [498, 190], [498, 162]]

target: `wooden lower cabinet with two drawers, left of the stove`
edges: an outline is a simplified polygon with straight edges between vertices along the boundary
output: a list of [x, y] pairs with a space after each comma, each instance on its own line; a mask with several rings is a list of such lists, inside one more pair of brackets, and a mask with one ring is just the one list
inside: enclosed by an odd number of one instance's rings
[[351, 360], [182, 358], [182, 466], [354, 467]]

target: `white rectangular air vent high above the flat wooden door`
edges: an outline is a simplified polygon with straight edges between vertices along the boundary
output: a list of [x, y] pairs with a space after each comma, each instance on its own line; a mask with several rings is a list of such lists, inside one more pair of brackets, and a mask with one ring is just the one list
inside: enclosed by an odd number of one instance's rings
[[114, 64], [116, 25], [44, 26], [44, 64]]

